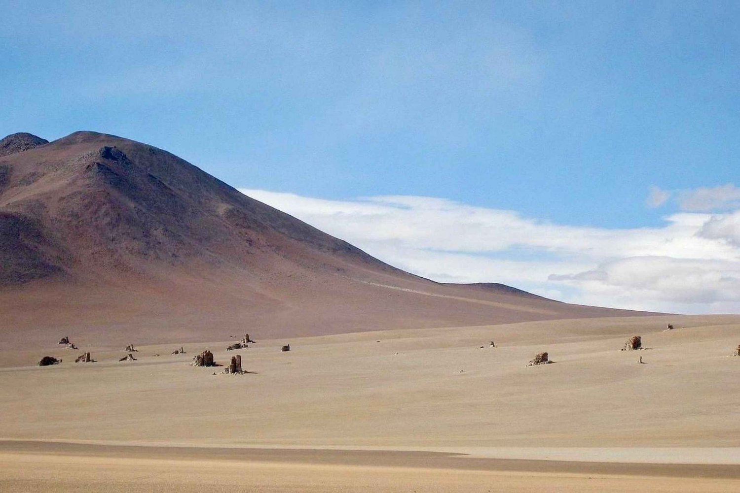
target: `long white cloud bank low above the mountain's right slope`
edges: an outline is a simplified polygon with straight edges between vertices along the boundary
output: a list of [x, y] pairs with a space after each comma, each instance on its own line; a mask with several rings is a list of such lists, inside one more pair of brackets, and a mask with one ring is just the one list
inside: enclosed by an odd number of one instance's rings
[[682, 212], [657, 228], [608, 229], [437, 197], [240, 191], [440, 282], [502, 282], [588, 305], [740, 313], [740, 211]]

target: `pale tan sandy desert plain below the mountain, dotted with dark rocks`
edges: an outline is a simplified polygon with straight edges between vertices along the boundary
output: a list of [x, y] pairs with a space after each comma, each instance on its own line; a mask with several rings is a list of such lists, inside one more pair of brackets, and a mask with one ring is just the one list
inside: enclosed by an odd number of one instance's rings
[[[0, 491], [740, 488], [740, 316], [241, 332], [258, 342], [131, 341], [123, 362], [55, 344], [73, 332], [0, 348]], [[620, 351], [632, 335], [648, 349]], [[249, 373], [190, 366], [204, 349]], [[527, 367], [541, 351], [554, 364]]]

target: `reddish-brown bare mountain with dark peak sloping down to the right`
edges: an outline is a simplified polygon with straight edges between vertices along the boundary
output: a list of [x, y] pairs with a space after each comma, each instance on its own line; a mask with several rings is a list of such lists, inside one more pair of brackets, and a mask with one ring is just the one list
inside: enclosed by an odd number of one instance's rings
[[0, 262], [2, 346], [638, 314], [411, 275], [169, 152], [95, 132], [0, 141]]

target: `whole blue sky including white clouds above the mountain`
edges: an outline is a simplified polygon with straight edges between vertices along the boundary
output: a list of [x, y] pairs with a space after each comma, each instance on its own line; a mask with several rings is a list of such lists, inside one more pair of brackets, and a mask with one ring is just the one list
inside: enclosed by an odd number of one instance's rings
[[740, 313], [740, 3], [0, 0], [0, 134], [173, 152], [392, 265]]

